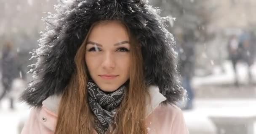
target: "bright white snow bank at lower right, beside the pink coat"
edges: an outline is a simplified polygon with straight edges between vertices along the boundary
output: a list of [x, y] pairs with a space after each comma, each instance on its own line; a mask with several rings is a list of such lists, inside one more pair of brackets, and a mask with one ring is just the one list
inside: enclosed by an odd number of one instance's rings
[[[216, 128], [209, 116], [256, 116], [256, 98], [196, 99], [194, 104], [193, 110], [184, 111], [184, 118], [190, 134], [216, 134]], [[254, 126], [256, 130], [256, 124]]]

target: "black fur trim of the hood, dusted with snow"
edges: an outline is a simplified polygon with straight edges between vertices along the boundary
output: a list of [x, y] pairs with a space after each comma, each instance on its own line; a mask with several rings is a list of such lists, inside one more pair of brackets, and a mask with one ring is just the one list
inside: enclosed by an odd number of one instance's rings
[[174, 40], [166, 30], [169, 18], [160, 17], [157, 8], [144, 0], [59, 0], [56, 14], [49, 13], [47, 27], [32, 54], [34, 80], [21, 96], [31, 106], [41, 106], [51, 95], [65, 90], [75, 70], [75, 54], [96, 21], [120, 20], [141, 45], [144, 74], [148, 85], [156, 85], [168, 103], [184, 94], [180, 86]]

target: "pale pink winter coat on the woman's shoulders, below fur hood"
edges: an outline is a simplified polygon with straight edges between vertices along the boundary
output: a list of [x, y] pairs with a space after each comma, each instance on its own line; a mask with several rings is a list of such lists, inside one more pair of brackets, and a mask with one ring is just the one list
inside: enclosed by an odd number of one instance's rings
[[[149, 87], [149, 93], [152, 106], [146, 106], [148, 134], [189, 134], [181, 109], [160, 105], [166, 98], [157, 87]], [[21, 134], [54, 134], [59, 100], [59, 96], [51, 96], [43, 101], [41, 108], [33, 108]]]

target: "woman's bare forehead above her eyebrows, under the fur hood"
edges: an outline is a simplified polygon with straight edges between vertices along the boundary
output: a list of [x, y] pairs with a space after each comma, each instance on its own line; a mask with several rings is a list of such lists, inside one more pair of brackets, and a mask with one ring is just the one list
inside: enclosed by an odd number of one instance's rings
[[129, 36], [125, 25], [118, 21], [108, 21], [93, 26], [88, 35], [88, 41], [113, 44], [120, 41], [129, 41]]

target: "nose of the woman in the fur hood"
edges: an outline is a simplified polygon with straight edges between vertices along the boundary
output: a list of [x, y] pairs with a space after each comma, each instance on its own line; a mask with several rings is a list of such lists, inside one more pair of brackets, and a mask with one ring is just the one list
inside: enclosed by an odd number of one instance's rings
[[104, 54], [102, 66], [105, 70], [112, 70], [115, 68], [115, 57], [111, 52]]

